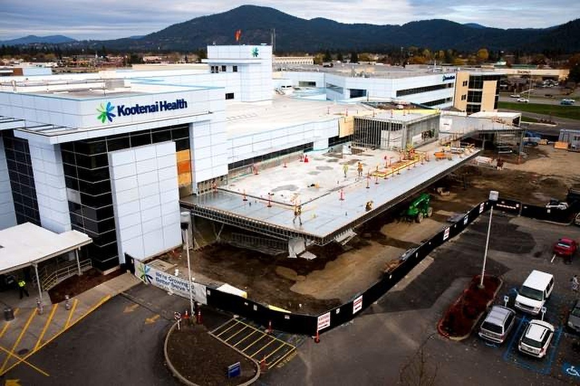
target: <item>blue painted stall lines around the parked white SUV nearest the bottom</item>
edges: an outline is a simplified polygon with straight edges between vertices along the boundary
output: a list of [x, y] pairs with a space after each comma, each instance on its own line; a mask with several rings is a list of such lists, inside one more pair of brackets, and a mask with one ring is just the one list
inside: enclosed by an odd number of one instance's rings
[[531, 370], [535, 373], [549, 374], [552, 371], [552, 364], [560, 344], [563, 329], [561, 327], [556, 329], [556, 332], [554, 332], [554, 339], [548, 348], [548, 353], [544, 358], [539, 359], [521, 353], [517, 347], [517, 341], [519, 341], [521, 334], [524, 332], [525, 328], [527, 328], [528, 322], [530, 322], [530, 319], [527, 317], [521, 318], [509, 345], [507, 345], [506, 351], [503, 353], [503, 360], [515, 363], [517, 366]]

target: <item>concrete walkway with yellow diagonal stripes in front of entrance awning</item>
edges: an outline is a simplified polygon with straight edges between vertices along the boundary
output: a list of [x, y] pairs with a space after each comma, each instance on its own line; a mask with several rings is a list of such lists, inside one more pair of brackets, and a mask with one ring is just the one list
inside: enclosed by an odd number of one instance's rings
[[68, 306], [66, 302], [50, 304], [48, 292], [43, 292], [42, 314], [37, 310], [38, 292], [29, 289], [31, 296], [21, 300], [18, 291], [0, 293], [4, 306], [12, 307], [14, 312], [12, 321], [0, 322], [0, 376], [21, 362], [43, 373], [26, 359], [108, 299], [139, 282], [130, 273], [119, 275], [71, 298]]

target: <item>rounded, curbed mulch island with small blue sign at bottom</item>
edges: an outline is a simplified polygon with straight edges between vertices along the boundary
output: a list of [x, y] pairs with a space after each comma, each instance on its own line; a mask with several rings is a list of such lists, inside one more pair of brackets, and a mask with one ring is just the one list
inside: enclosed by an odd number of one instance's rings
[[[202, 325], [182, 323], [181, 330], [173, 329], [167, 355], [178, 373], [200, 386], [235, 386], [256, 375], [254, 362], [215, 339]], [[240, 362], [241, 374], [228, 378], [227, 366], [236, 362]]]

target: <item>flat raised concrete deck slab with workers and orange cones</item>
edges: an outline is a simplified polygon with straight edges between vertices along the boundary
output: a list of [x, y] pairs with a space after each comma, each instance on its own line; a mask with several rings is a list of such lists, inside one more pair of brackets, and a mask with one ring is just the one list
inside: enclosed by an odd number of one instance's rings
[[[436, 161], [433, 156], [433, 151], [438, 150], [436, 142], [418, 150], [429, 153], [430, 161], [416, 162], [386, 179], [365, 176], [377, 167], [388, 172], [389, 168], [384, 167], [385, 156], [396, 156], [394, 162], [398, 160], [397, 153], [366, 150], [342, 158], [317, 153], [309, 154], [308, 163], [296, 160], [285, 168], [282, 165], [259, 171], [258, 175], [236, 178], [216, 192], [185, 197], [181, 204], [193, 207], [194, 212], [195, 207], [203, 208], [206, 213], [215, 211], [221, 216], [234, 216], [238, 222], [273, 226], [306, 238], [329, 237], [415, 194], [479, 153], [474, 149], [461, 157], [452, 155], [451, 160]], [[358, 177], [358, 161], [363, 163], [363, 177]], [[344, 164], [350, 164], [346, 178]], [[369, 201], [372, 209], [367, 210]], [[302, 205], [302, 224], [294, 218], [297, 204]]]

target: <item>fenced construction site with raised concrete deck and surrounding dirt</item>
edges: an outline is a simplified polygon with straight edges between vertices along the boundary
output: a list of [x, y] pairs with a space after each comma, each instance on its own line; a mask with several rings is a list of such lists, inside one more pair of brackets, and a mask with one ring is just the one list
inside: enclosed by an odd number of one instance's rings
[[[498, 138], [522, 133], [487, 122], [487, 135], [476, 137], [479, 146], [494, 141], [493, 150], [461, 142], [469, 137], [461, 128], [403, 151], [339, 146], [251, 168], [212, 192], [184, 198], [194, 223], [195, 280], [227, 283], [248, 299], [295, 313], [318, 313], [365, 291], [405, 251], [485, 201], [490, 190], [543, 205], [580, 183], [577, 153], [553, 145], [502, 153]], [[498, 159], [505, 162], [501, 170]], [[576, 167], [556, 171], [557, 164]], [[187, 263], [182, 250], [163, 259]], [[419, 265], [428, 264], [429, 258]]]

